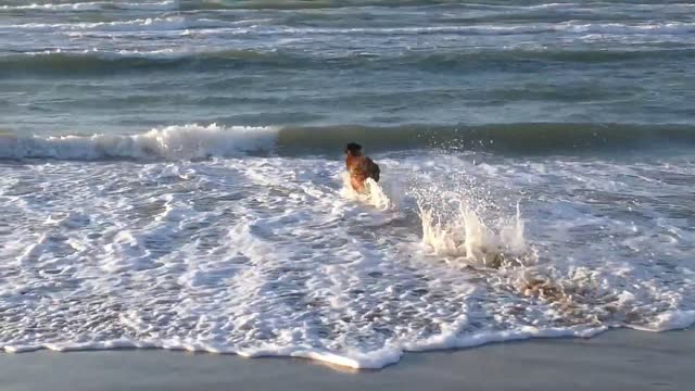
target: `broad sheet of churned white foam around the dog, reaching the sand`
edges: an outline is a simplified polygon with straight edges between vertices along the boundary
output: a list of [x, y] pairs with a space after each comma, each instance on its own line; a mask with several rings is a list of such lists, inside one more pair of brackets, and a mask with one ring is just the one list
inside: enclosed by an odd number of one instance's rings
[[[233, 128], [189, 127], [153, 131], [147, 144], [210, 133], [204, 153], [185, 153], [202, 155], [247, 142]], [[167, 148], [157, 151], [178, 156]], [[372, 157], [397, 200], [388, 209], [346, 197], [338, 159], [0, 164], [0, 349], [162, 348], [378, 368], [408, 351], [695, 320], [693, 238], [678, 214], [691, 201], [671, 197], [692, 181], [668, 182], [695, 177], [693, 163]], [[452, 256], [424, 243], [420, 211], [471, 247], [454, 240]], [[521, 261], [479, 267], [485, 247]]]

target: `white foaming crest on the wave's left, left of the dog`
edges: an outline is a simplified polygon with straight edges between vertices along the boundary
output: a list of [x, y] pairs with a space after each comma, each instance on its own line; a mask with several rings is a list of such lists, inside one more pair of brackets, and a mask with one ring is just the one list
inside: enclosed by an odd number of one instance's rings
[[274, 147], [277, 131], [273, 127], [190, 124], [155, 128], [129, 136], [0, 136], [0, 159], [178, 160], [230, 156], [251, 151], [269, 151]]

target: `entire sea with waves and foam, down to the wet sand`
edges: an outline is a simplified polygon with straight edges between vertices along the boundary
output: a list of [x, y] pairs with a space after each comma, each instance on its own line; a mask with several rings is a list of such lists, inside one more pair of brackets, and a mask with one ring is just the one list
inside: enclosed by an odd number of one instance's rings
[[688, 328], [694, 10], [0, 1], [0, 351]]

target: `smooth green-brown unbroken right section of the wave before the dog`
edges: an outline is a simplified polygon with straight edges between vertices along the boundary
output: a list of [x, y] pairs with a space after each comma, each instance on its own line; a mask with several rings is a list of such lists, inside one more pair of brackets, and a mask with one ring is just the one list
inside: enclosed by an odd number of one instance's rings
[[669, 142], [695, 146], [695, 128], [685, 125], [569, 123], [285, 127], [278, 133], [277, 149], [289, 154], [331, 153], [352, 140], [361, 140], [369, 146], [370, 151], [441, 148], [544, 154], [649, 149]]

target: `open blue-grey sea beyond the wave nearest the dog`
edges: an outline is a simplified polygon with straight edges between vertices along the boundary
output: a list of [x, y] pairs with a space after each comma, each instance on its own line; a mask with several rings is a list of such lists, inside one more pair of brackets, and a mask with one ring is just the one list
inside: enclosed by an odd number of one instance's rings
[[25, 135], [695, 119], [684, 2], [2, 3], [0, 126]]

